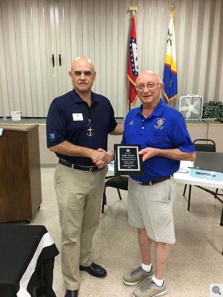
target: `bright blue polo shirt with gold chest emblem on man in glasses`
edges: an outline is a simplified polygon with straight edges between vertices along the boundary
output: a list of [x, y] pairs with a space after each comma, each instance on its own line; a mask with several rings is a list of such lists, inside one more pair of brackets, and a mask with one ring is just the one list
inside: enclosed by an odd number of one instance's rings
[[[147, 118], [142, 115], [142, 105], [128, 112], [121, 143], [140, 144], [142, 148], [195, 151], [182, 114], [162, 100]], [[143, 162], [144, 175], [130, 177], [138, 182], [149, 182], [173, 174], [179, 165], [180, 161], [154, 156]]]

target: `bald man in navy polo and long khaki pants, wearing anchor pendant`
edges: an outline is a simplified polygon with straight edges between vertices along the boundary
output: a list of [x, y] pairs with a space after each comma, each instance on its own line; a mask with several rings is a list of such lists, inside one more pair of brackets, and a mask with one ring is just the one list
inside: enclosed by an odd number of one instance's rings
[[[95, 277], [107, 272], [91, 258], [100, 222], [107, 164], [108, 134], [123, 134], [109, 99], [91, 91], [96, 72], [91, 60], [76, 58], [69, 71], [73, 90], [53, 100], [47, 116], [47, 144], [59, 158], [55, 190], [61, 227], [65, 297], [77, 297], [79, 270]], [[97, 165], [96, 165], [97, 164]]]

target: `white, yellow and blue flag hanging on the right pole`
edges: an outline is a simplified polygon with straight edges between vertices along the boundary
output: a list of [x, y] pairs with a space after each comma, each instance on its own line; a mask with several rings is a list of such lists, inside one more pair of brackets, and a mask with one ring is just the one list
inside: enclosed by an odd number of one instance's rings
[[174, 10], [172, 9], [167, 34], [167, 50], [164, 66], [164, 96], [167, 99], [167, 103], [177, 96], [176, 49], [173, 18]]

